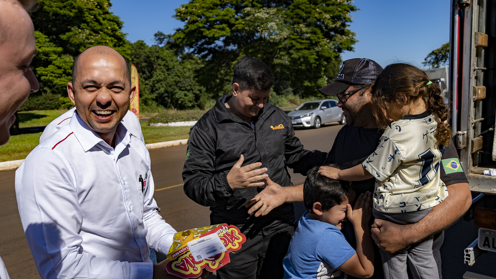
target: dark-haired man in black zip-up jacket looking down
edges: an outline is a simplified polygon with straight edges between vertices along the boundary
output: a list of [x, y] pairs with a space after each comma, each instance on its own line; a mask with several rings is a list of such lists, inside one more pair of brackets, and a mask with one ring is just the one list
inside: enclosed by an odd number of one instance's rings
[[282, 260], [295, 225], [293, 205], [283, 204], [261, 218], [250, 216], [245, 205], [265, 183], [291, 185], [286, 167], [310, 151], [295, 137], [286, 113], [266, 103], [272, 84], [265, 63], [241, 58], [234, 67], [232, 95], [219, 98], [189, 136], [186, 195], [210, 207], [211, 224], [234, 224], [247, 236], [241, 250], [230, 254], [231, 263], [217, 271], [219, 279], [283, 277]]

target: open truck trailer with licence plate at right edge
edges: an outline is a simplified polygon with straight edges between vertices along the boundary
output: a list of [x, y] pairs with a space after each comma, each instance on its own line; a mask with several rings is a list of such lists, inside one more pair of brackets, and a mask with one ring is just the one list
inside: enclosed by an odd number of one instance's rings
[[474, 197], [464, 218], [479, 227], [464, 251], [472, 266], [496, 252], [496, 0], [451, 0], [447, 77], [454, 143]]

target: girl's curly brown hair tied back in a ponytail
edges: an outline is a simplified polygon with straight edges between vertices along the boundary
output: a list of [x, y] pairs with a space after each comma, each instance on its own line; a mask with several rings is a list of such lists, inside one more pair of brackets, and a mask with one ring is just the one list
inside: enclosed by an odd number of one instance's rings
[[372, 87], [372, 113], [380, 129], [385, 129], [391, 122], [403, 117], [400, 113], [404, 106], [402, 94], [407, 98], [406, 104], [422, 98], [427, 110], [437, 115], [441, 123], [437, 125], [435, 138], [448, 146], [451, 142], [451, 130], [443, 123], [449, 117], [449, 109], [444, 104], [441, 89], [436, 83], [429, 83], [429, 77], [421, 69], [405, 64], [390, 64], [377, 76]]

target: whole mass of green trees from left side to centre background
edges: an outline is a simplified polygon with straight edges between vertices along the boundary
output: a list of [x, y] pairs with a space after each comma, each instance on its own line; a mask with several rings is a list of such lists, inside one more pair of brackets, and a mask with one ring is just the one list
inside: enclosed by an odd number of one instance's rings
[[148, 46], [126, 40], [110, 0], [38, 0], [32, 67], [41, 89], [32, 97], [66, 96], [75, 56], [96, 45], [136, 65], [145, 110], [204, 108], [230, 93], [233, 65], [243, 56], [272, 69], [277, 95], [319, 96], [316, 89], [336, 76], [340, 54], [357, 42], [349, 29], [352, 2], [189, 0], [175, 14], [184, 26], [174, 34], [158, 31]]

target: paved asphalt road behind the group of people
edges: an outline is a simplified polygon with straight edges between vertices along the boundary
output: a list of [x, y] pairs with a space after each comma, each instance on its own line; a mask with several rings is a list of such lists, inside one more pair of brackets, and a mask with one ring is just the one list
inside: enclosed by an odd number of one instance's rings
[[[328, 151], [340, 128], [341, 125], [324, 125], [317, 130], [297, 130], [296, 134], [306, 149]], [[190, 201], [183, 192], [181, 172], [186, 146], [153, 149], [150, 155], [155, 199], [162, 208], [164, 219], [177, 230], [209, 224], [208, 208]], [[302, 183], [304, 177], [292, 174], [292, 180], [293, 183]], [[0, 220], [0, 255], [10, 278], [38, 279], [17, 212], [13, 170], [0, 172]], [[463, 264], [463, 248], [476, 237], [477, 229], [468, 222], [460, 221], [447, 230], [447, 244], [441, 249], [444, 278], [461, 278], [466, 270], [496, 277], [496, 253], [484, 255], [483, 261], [478, 261], [475, 267]]]

